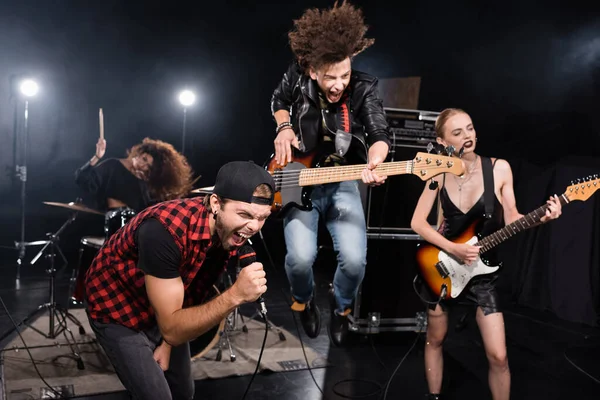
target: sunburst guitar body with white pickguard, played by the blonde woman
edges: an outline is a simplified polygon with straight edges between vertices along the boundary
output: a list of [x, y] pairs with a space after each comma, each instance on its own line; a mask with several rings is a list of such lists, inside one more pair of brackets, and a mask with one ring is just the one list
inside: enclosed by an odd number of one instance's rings
[[[473, 222], [452, 242], [477, 243], [480, 237], [476, 230], [480, 224], [481, 220]], [[500, 265], [489, 265], [481, 256], [471, 265], [462, 264], [452, 255], [431, 244], [419, 246], [416, 258], [421, 277], [433, 294], [442, 299], [458, 297], [471, 279], [491, 274], [500, 268]]]

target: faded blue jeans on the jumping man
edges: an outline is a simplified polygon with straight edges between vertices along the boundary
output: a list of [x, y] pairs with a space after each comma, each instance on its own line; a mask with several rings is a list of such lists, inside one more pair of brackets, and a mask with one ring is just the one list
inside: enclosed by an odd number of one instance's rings
[[317, 258], [319, 217], [325, 218], [337, 253], [333, 287], [336, 311], [341, 313], [356, 297], [367, 265], [367, 228], [358, 182], [316, 186], [311, 199], [311, 211], [293, 208], [284, 218], [285, 271], [294, 299], [307, 303], [313, 295], [312, 267]]

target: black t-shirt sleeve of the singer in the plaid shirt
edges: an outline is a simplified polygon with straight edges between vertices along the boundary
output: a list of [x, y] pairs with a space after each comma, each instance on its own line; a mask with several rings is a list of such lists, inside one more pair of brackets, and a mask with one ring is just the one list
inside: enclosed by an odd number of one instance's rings
[[175, 239], [158, 220], [142, 222], [135, 234], [138, 247], [138, 268], [157, 278], [178, 278], [181, 251]]

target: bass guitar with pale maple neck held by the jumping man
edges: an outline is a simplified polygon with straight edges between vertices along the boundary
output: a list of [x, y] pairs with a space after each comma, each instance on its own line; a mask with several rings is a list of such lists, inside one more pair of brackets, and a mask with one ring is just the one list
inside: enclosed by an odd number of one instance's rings
[[[292, 207], [310, 211], [313, 185], [361, 179], [366, 164], [324, 167], [331, 155], [326, 150], [327, 147], [321, 146], [312, 152], [302, 153], [292, 147], [292, 161], [283, 166], [277, 164], [274, 154], [271, 155], [265, 163], [276, 186], [271, 216], [283, 217]], [[417, 153], [412, 160], [384, 162], [375, 168], [380, 176], [413, 174], [424, 181], [445, 172], [462, 175], [464, 171], [461, 159], [430, 153]]]

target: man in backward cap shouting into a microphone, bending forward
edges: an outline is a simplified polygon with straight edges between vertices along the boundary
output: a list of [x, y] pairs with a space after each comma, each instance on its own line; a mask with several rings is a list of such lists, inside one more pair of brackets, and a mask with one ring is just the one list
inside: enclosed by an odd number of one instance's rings
[[256, 164], [225, 164], [210, 196], [149, 207], [98, 252], [86, 275], [87, 313], [133, 398], [192, 399], [188, 342], [266, 291], [253, 262], [205, 302], [231, 251], [262, 228], [274, 188]]

